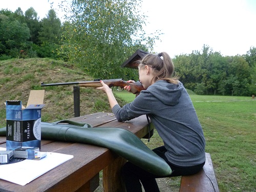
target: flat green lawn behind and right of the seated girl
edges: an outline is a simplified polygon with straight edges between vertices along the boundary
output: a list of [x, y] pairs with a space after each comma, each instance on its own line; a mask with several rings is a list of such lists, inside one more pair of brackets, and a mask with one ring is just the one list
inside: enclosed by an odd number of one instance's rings
[[[130, 102], [131, 93], [115, 92]], [[190, 94], [202, 124], [220, 191], [256, 191], [256, 99]], [[162, 144], [154, 133], [150, 148]]]

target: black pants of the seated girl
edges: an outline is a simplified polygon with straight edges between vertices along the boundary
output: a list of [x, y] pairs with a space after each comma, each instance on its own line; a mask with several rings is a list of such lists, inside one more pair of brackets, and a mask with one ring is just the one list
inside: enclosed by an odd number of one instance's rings
[[[174, 165], [166, 159], [164, 153], [166, 149], [164, 146], [160, 146], [153, 150], [158, 156], [163, 158], [170, 168], [172, 168], [172, 174], [166, 177], [176, 177], [183, 175], [193, 175], [198, 173], [204, 166], [204, 163], [195, 166], [177, 166]], [[150, 161], [150, 159], [148, 159]], [[146, 170], [134, 165], [131, 162], [127, 162], [124, 164], [122, 168], [122, 179], [125, 183], [127, 192], [141, 192], [141, 184], [144, 187], [145, 192], [158, 192], [159, 188], [155, 178], [161, 178], [157, 175], [148, 173]]]

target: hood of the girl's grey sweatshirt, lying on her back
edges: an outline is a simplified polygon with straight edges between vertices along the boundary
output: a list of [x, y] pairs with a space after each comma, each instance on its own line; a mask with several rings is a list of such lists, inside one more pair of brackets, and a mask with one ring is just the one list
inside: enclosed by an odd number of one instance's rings
[[166, 105], [176, 105], [184, 90], [183, 84], [179, 81], [178, 84], [168, 83], [165, 80], [158, 80], [146, 91], [150, 92]]

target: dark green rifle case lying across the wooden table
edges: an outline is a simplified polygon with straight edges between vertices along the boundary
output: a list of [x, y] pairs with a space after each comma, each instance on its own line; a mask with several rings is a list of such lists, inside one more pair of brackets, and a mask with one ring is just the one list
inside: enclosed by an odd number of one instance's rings
[[[6, 127], [0, 129], [0, 136], [6, 136]], [[70, 120], [54, 123], [41, 122], [41, 139], [79, 142], [106, 147], [152, 174], [164, 177], [172, 173], [169, 165], [150, 150], [136, 135], [121, 128], [92, 127], [87, 123]]]

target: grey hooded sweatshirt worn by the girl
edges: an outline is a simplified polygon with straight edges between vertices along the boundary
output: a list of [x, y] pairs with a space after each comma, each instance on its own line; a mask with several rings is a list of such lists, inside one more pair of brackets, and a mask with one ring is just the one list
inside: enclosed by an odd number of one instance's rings
[[183, 84], [158, 80], [122, 108], [112, 109], [118, 121], [147, 114], [164, 142], [166, 158], [178, 166], [205, 161], [205, 139], [193, 103]]

